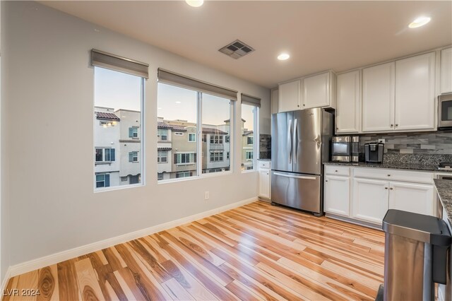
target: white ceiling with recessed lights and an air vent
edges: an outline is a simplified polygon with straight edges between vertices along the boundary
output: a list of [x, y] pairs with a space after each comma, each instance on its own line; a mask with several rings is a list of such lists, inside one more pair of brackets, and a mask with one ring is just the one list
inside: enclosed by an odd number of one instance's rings
[[[452, 1], [40, 2], [268, 88], [452, 44]], [[432, 21], [409, 29], [418, 16]], [[236, 39], [256, 51], [218, 52]]]

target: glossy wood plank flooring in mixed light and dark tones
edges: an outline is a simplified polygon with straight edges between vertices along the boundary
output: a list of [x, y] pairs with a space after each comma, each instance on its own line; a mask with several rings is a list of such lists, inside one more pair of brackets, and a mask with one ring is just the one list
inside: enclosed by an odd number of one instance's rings
[[3, 300], [374, 300], [383, 252], [381, 231], [256, 201], [16, 276]]

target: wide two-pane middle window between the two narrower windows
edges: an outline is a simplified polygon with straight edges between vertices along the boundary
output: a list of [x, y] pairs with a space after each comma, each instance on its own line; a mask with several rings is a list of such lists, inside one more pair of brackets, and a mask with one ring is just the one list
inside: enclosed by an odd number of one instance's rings
[[[211, 90], [206, 85], [158, 70], [158, 124], [165, 124], [174, 133], [181, 131], [187, 135], [186, 139], [172, 136], [175, 141], [168, 147], [172, 149], [169, 159], [173, 164], [160, 165], [157, 170], [157, 173], [165, 172], [165, 179], [199, 177], [207, 172], [230, 170], [230, 160], [224, 157], [225, 152], [231, 151], [232, 141], [226, 142], [225, 136], [230, 135], [230, 124], [233, 124], [231, 115], [237, 91], [208, 85], [213, 87]], [[210, 153], [213, 153], [212, 160]], [[198, 156], [203, 160], [197, 160]]]

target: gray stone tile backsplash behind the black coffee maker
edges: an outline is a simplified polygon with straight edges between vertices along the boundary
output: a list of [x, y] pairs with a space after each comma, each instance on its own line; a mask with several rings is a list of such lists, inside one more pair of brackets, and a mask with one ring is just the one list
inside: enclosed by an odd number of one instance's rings
[[359, 151], [364, 143], [385, 139], [385, 153], [452, 155], [452, 131], [395, 134], [361, 134]]

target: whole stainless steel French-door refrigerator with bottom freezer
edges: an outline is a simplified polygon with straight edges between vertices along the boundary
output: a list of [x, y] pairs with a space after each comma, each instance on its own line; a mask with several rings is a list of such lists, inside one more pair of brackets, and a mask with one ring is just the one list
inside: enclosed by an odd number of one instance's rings
[[328, 161], [333, 114], [317, 108], [271, 118], [272, 203], [321, 216], [322, 163]]

